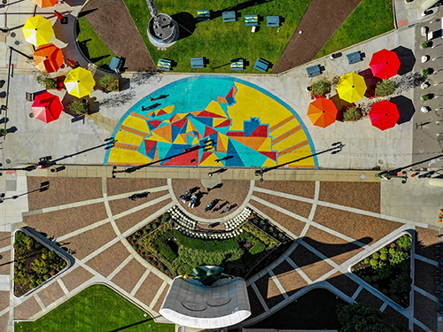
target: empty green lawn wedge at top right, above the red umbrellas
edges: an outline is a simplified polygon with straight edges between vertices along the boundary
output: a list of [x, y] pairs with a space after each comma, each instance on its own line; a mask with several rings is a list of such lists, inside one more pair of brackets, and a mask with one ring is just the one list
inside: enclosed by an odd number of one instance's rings
[[343, 50], [393, 28], [391, 0], [362, 0], [315, 58]]

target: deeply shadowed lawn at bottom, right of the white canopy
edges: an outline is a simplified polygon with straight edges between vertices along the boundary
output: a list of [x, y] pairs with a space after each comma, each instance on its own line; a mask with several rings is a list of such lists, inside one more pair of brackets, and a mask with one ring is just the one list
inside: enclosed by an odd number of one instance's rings
[[[265, 320], [247, 328], [275, 329], [337, 329], [337, 305], [346, 302], [329, 290], [310, 290], [291, 304], [284, 306]], [[289, 319], [291, 317], [291, 319]]]

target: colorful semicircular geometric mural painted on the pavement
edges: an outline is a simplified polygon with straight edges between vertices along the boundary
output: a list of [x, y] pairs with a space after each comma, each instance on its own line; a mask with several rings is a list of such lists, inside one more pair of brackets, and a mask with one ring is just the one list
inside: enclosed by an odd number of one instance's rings
[[[315, 153], [291, 107], [225, 76], [175, 81], [120, 120], [105, 165], [266, 167]], [[316, 158], [287, 167], [315, 168]]]

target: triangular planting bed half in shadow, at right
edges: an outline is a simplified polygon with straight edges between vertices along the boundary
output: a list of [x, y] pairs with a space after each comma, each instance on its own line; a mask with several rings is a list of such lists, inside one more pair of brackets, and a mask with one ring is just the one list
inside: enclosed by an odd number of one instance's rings
[[411, 237], [396, 241], [374, 252], [352, 267], [352, 272], [403, 308], [409, 306]]

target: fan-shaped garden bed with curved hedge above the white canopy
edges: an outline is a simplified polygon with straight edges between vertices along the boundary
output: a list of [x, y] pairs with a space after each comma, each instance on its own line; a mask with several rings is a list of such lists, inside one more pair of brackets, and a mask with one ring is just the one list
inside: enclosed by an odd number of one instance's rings
[[165, 213], [127, 239], [144, 259], [171, 278], [191, 274], [192, 268], [201, 265], [221, 266], [227, 274], [246, 277], [268, 266], [291, 245], [290, 238], [257, 214], [249, 220], [234, 238], [204, 240], [183, 235]]

